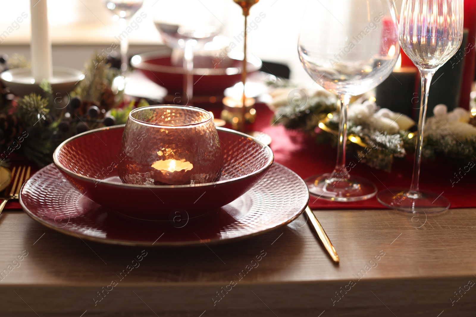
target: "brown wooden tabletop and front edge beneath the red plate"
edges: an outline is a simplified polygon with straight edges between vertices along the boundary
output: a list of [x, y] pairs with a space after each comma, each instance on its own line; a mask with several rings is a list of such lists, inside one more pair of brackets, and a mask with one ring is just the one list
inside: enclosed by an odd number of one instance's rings
[[476, 315], [476, 209], [427, 219], [387, 210], [315, 214], [340, 265], [304, 216], [233, 244], [143, 251], [75, 239], [4, 211], [0, 316]]

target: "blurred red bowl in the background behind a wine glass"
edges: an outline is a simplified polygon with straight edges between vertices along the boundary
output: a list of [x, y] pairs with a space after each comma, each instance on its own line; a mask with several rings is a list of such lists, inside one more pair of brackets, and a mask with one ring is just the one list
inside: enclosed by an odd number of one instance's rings
[[[261, 61], [253, 58], [248, 60], [248, 74], [261, 68]], [[214, 58], [196, 56], [194, 58], [193, 90], [194, 95], [216, 95], [241, 81], [242, 60], [236, 58]], [[167, 88], [169, 94], [183, 90], [183, 67], [172, 65], [171, 49], [135, 55], [131, 65], [139, 69], [146, 77], [156, 84]]]

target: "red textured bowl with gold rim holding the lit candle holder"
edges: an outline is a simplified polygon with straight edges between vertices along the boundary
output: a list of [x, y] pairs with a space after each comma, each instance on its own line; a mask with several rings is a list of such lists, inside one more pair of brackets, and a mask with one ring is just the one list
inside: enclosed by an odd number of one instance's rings
[[[60, 144], [53, 160], [86, 197], [113, 211], [144, 220], [193, 218], [224, 206], [253, 187], [273, 163], [271, 149], [251, 138], [217, 128], [223, 154], [220, 181], [193, 185], [145, 186], [122, 183], [118, 161], [124, 125], [91, 130]], [[146, 142], [146, 140], [144, 140]]]

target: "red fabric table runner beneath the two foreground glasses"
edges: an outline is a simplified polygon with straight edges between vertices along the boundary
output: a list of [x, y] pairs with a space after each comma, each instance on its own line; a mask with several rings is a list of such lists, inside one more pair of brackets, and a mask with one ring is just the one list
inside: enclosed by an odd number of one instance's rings
[[[272, 138], [271, 149], [275, 162], [283, 164], [296, 172], [302, 178], [312, 175], [330, 173], [334, 169], [337, 158], [337, 148], [329, 145], [316, 144], [313, 138], [300, 132], [286, 130], [280, 125], [271, 125], [273, 113], [267, 106], [257, 106], [257, 121], [254, 129], [269, 134]], [[358, 163], [357, 158], [349, 158], [356, 163], [350, 171], [353, 175], [365, 177], [375, 183], [379, 191], [392, 187], [409, 188], [413, 157], [395, 160], [392, 172], [377, 170], [364, 163]], [[349, 161], [350, 162], [350, 161]], [[442, 193], [451, 203], [450, 208], [476, 207], [475, 174], [462, 174], [457, 183], [455, 173], [463, 170], [463, 166], [438, 162], [422, 162], [420, 171], [420, 188]], [[461, 170], [459, 169], [461, 168]], [[313, 197], [309, 200], [312, 209], [384, 209], [377, 198], [361, 202], [330, 202]]]

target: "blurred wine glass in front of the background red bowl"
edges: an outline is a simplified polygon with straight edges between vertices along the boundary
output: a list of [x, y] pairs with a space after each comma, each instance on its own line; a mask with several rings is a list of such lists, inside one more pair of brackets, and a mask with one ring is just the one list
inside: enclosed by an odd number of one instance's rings
[[154, 23], [167, 46], [183, 52], [184, 100], [193, 97], [194, 52], [217, 36], [224, 27], [223, 0], [158, 0]]

